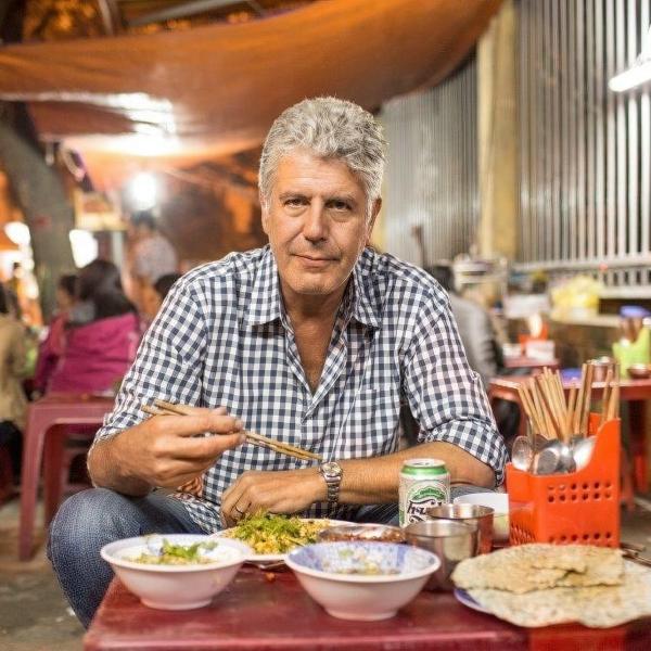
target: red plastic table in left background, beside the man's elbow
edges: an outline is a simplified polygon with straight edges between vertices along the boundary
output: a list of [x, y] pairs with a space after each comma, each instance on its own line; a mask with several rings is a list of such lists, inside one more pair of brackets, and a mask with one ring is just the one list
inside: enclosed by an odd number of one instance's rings
[[100, 426], [112, 407], [113, 398], [88, 394], [53, 394], [29, 405], [21, 480], [18, 558], [22, 561], [29, 560], [33, 553], [36, 498], [46, 437], [55, 435], [55, 429], [71, 425]]

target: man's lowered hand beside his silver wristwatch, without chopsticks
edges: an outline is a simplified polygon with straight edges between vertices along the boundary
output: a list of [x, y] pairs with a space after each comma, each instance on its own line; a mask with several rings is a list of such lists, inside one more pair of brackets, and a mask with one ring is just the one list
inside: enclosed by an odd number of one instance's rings
[[297, 513], [327, 499], [326, 482], [318, 468], [243, 473], [221, 496], [221, 519], [237, 524], [245, 513]]

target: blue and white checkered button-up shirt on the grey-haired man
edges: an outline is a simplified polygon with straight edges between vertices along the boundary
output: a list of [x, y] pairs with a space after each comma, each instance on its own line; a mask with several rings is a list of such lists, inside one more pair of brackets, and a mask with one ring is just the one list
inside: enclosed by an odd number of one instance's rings
[[[333, 460], [396, 451], [404, 399], [420, 423], [420, 442], [458, 445], [493, 468], [498, 482], [507, 459], [447, 295], [424, 271], [368, 248], [344, 294], [314, 395], [267, 246], [230, 254], [176, 283], [97, 439], [141, 422], [140, 406], [154, 398], [224, 406], [247, 430]], [[221, 494], [242, 472], [309, 464], [243, 445], [207, 471], [201, 499], [180, 497], [213, 532]], [[341, 505], [332, 513], [316, 503], [306, 514], [354, 520], [357, 510]]]

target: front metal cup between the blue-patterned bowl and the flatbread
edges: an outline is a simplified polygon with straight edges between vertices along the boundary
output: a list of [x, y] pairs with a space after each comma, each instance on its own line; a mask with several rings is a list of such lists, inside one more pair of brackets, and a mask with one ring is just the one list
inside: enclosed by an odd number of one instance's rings
[[441, 559], [441, 567], [430, 577], [427, 590], [452, 590], [450, 574], [458, 563], [476, 556], [478, 526], [454, 520], [412, 522], [405, 527], [407, 542], [432, 551]]

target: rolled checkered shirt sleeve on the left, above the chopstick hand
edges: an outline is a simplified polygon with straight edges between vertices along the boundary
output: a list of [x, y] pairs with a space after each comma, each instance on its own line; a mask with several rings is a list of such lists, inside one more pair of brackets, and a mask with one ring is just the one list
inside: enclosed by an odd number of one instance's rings
[[200, 304], [183, 281], [173, 288], [140, 344], [95, 443], [139, 424], [145, 418], [141, 406], [155, 398], [200, 405], [206, 345]]

